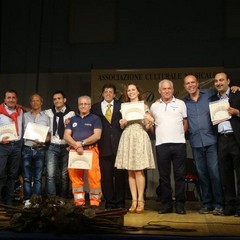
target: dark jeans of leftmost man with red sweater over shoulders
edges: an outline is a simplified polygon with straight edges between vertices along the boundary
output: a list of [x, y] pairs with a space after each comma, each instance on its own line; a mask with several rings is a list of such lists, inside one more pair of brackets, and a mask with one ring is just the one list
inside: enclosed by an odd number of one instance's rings
[[15, 180], [19, 174], [21, 159], [21, 141], [0, 144], [0, 202], [2, 188], [6, 186], [6, 203], [11, 205]]

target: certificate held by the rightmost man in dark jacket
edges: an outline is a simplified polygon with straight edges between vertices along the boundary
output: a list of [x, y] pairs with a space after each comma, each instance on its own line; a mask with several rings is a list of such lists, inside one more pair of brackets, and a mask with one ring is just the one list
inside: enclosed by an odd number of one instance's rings
[[230, 107], [228, 99], [221, 99], [209, 103], [210, 116], [213, 125], [224, 122], [231, 118], [227, 109]]

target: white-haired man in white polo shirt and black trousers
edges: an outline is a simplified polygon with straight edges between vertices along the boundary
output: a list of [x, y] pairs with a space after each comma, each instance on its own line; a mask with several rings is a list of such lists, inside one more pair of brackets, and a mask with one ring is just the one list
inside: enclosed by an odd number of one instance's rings
[[161, 98], [151, 106], [155, 120], [156, 155], [160, 175], [160, 188], [163, 206], [159, 214], [173, 211], [173, 196], [170, 173], [173, 164], [175, 180], [176, 213], [186, 214], [185, 175], [186, 175], [186, 141], [188, 128], [186, 105], [173, 96], [174, 88], [170, 80], [159, 82]]

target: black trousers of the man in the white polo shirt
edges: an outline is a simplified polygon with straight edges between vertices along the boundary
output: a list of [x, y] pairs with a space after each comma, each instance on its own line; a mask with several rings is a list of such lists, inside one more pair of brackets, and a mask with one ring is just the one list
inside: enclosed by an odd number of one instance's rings
[[176, 202], [185, 202], [186, 144], [166, 143], [156, 146], [158, 171], [160, 176], [161, 199], [172, 202], [171, 163], [175, 180]]

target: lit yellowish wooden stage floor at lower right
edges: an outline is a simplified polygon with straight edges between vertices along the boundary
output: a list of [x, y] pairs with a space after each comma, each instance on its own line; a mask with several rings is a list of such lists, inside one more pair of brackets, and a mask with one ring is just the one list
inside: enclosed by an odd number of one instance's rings
[[199, 214], [199, 202], [187, 202], [186, 215], [158, 214], [160, 206], [155, 200], [147, 200], [143, 214], [125, 215], [124, 226], [136, 228], [134, 234], [240, 237], [239, 217]]

